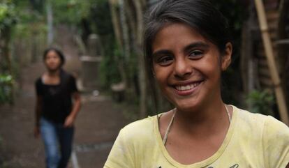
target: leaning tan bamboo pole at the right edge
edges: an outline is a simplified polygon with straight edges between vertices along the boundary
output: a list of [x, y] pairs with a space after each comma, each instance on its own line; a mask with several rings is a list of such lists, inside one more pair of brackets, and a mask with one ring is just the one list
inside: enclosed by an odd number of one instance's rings
[[270, 75], [274, 84], [274, 91], [276, 94], [281, 121], [283, 121], [283, 123], [286, 123], [286, 125], [289, 125], [286, 101], [285, 101], [284, 94], [281, 88], [281, 80], [279, 78], [278, 70], [276, 68], [272, 42], [269, 37], [269, 29], [268, 29], [266, 15], [265, 15], [265, 8], [264, 8], [264, 4], [262, 3], [262, 0], [255, 0], [255, 6], [258, 12], [258, 19], [259, 19], [259, 24], [260, 24], [260, 30], [262, 32], [263, 45], [265, 48], [265, 54], [267, 57]]

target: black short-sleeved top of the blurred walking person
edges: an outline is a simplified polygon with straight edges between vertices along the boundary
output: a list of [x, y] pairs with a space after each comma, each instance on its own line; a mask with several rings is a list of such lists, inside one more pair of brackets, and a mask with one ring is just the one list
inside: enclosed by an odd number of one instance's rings
[[41, 116], [54, 123], [64, 123], [72, 109], [72, 93], [77, 92], [75, 78], [61, 70], [60, 84], [44, 84], [41, 77], [36, 80], [36, 93], [42, 97]]

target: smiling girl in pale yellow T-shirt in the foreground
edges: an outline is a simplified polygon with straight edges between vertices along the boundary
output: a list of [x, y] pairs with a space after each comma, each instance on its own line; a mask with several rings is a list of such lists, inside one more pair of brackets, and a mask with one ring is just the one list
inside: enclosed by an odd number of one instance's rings
[[289, 162], [289, 128], [221, 98], [228, 24], [205, 0], [164, 0], [147, 18], [144, 60], [175, 109], [127, 125], [105, 167], [266, 167]]

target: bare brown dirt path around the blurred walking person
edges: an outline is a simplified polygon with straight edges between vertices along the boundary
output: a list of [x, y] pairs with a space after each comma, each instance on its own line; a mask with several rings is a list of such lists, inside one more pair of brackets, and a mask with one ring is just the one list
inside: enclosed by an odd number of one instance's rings
[[[65, 44], [70, 39], [62, 40]], [[62, 45], [62, 48], [67, 58], [66, 70], [80, 75], [80, 61], [75, 54], [77, 50], [73, 50], [69, 44]], [[45, 167], [42, 140], [35, 139], [33, 135], [34, 81], [44, 70], [41, 62], [22, 68], [15, 105], [0, 107], [0, 168]], [[100, 96], [82, 94], [82, 109], [75, 123], [74, 139], [74, 151], [80, 168], [103, 167], [119, 130], [129, 122], [124, 117], [122, 106], [109, 96], [104, 96], [102, 91], [100, 93]]]

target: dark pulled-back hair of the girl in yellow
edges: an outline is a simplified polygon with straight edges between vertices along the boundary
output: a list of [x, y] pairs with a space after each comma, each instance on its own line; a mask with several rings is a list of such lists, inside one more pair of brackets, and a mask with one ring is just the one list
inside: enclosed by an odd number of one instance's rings
[[220, 53], [225, 51], [225, 45], [230, 42], [226, 18], [208, 0], [160, 1], [148, 11], [145, 22], [144, 63], [153, 94], [152, 43], [164, 26], [172, 23], [186, 24], [216, 45]]

